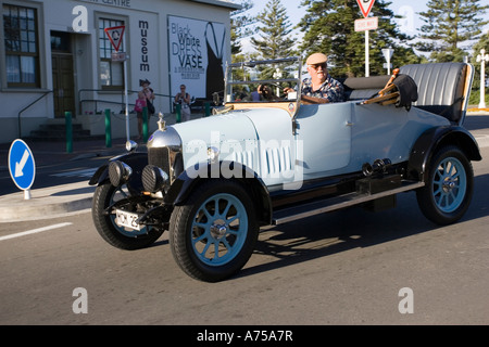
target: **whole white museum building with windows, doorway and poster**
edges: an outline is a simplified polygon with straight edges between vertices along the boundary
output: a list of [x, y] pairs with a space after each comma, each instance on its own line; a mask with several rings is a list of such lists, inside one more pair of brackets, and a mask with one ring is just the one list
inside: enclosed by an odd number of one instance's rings
[[[181, 83], [209, 99], [223, 88], [237, 9], [224, 0], [0, 0], [0, 142], [65, 112], [103, 133], [104, 110], [124, 123], [125, 80], [128, 110], [140, 79], [151, 81], [156, 112], [171, 111]], [[104, 29], [114, 27], [111, 40]], [[111, 41], [129, 56], [127, 76]]]

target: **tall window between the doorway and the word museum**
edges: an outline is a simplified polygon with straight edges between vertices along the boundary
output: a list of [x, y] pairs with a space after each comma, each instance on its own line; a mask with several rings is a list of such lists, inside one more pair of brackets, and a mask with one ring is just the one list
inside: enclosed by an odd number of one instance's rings
[[[124, 66], [122, 62], [112, 62], [112, 52], [115, 49], [106, 36], [104, 29], [124, 25], [123, 21], [99, 18], [99, 55], [100, 55], [100, 83], [102, 89], [124, 88]], [[124, 51], [124, 40], [118, 49]]]

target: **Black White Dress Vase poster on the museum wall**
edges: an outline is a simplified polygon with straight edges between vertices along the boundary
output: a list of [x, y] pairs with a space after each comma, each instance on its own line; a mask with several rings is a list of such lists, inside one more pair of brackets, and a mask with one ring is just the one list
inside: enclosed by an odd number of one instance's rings
[[180, 91], [181, 85], [190, 95], [206, 100], [212, 100], [213, 92], [224, 90], [224, 24], [168, 16], [168, 42], [172, 95]]

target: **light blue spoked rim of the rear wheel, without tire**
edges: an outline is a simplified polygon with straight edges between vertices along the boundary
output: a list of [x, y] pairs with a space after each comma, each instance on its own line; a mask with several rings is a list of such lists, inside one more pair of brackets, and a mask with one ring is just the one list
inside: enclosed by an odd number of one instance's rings
[[448, 157], [440, 162], [432, 177], [432, 197], [439, 210], [453, 213], [464, 201], [467, 176], [462, 163]]

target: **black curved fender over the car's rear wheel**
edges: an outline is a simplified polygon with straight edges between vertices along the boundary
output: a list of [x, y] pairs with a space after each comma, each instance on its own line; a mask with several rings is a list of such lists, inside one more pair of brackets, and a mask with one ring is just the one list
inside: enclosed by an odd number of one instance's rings
[[460, 147], [469, 160], [482, 159], [477, 141], [467, 129], [460, 126], [435, 127], [423, 132], [414, 143], [408, 163], [408, 177], [424, 181], [432, 155], [448, 144]]

